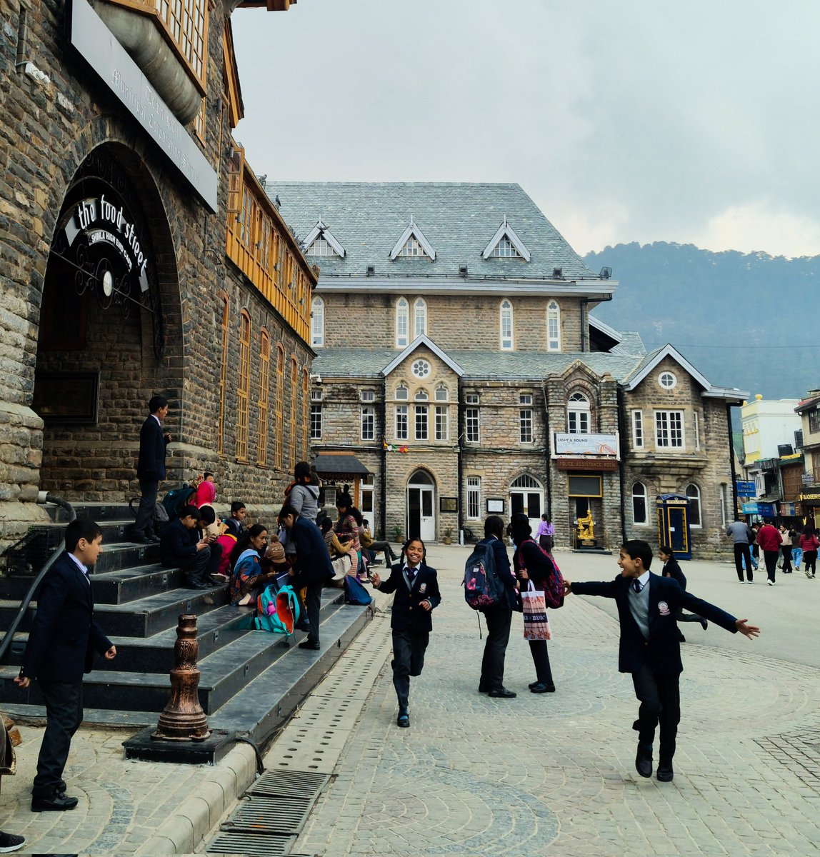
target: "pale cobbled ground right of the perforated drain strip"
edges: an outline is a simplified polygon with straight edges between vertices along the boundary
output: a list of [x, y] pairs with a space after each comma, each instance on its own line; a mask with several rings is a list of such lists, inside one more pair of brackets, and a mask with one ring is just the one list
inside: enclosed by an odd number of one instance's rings
[[[675, 777], [660, 783], [634, 770], [637, 702], [617, 671], [617, 621], [604, 599], [570, 596], [551, 611], [557, 692], [527, 691], [535, 676], [520, 618], [505, 676], [518, 698], [477, 692], [483, 644], [460, 590], [467, 553], [430, 551], [444, 601], [411, 686], [410, 728], [395, 725], [387, 643], [294, 853], [817, 854], [820, 584], [793, 575], [776, 587], [762, 578], [740, 586], [726, 562], [685, 565], [690, 590], [762, 626], [763, 636], [682, 626], [690, 642]], [[571, 579], [618, 572], [613, 556], [557, 556]]]

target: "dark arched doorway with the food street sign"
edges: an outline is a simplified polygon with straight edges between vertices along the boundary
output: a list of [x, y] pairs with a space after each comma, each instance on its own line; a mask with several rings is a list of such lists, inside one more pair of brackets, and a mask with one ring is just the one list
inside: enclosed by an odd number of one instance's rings
[[46, 264], [33, 391], [45, 422], [41, 488], [73, 500], [130, 494], [147, 399], [177, 399], [182, 387], [181, 361], [168, 360], [182, 354], [177, 330], [165, 347], [164, 292], [178, 307], [159, 194], [136, 153], [105, 144], [69, 183]]

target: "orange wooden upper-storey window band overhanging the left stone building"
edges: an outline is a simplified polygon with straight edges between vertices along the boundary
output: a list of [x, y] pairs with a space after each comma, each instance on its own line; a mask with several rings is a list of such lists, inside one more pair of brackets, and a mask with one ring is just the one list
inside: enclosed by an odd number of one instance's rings
[[228, 258], [308, 342], [310, 292], [316, 275], [245, 163], [242, 148], [234, 148], [228, 171]]

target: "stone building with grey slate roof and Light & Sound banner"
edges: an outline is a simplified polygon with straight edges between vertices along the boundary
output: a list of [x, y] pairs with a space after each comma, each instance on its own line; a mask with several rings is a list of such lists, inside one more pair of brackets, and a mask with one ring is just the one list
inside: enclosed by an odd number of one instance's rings
[[267, 189], [320, 263], [317, 467], [350, 482], [376, 530], [480, 535], [488, 513], [535, 525], [546, 512], [567, 546], [591, 512], [612, 548], [657, 542], [656, 497], [671, 494], [664, 538], [725, 549], [729, 411], [745, 393], [590, 315], [614, 297], [611, 272], [591, 271], [518, 185]]

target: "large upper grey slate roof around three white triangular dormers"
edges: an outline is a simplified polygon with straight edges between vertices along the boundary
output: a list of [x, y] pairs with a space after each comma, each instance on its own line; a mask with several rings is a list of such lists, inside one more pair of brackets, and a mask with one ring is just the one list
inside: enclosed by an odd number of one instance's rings
[[[473, 277], [598, 279], [518, 184], [502, 183], [356, 183], [267, 181], [271, 200], [300, 239], [321, 218], [346, 251], [338, 256], [309, 257], [328, 275], [362, 276], [368, 265], [386, 275], [458, 276], [466, 265]], [[436, 251], [428, 258], [390, 252], [413, 215]], [[505, 218], [530, 251], [522, 259], [482, 259], [482, 252]], [[307, 248], [306, 248], [307, 249]]]

